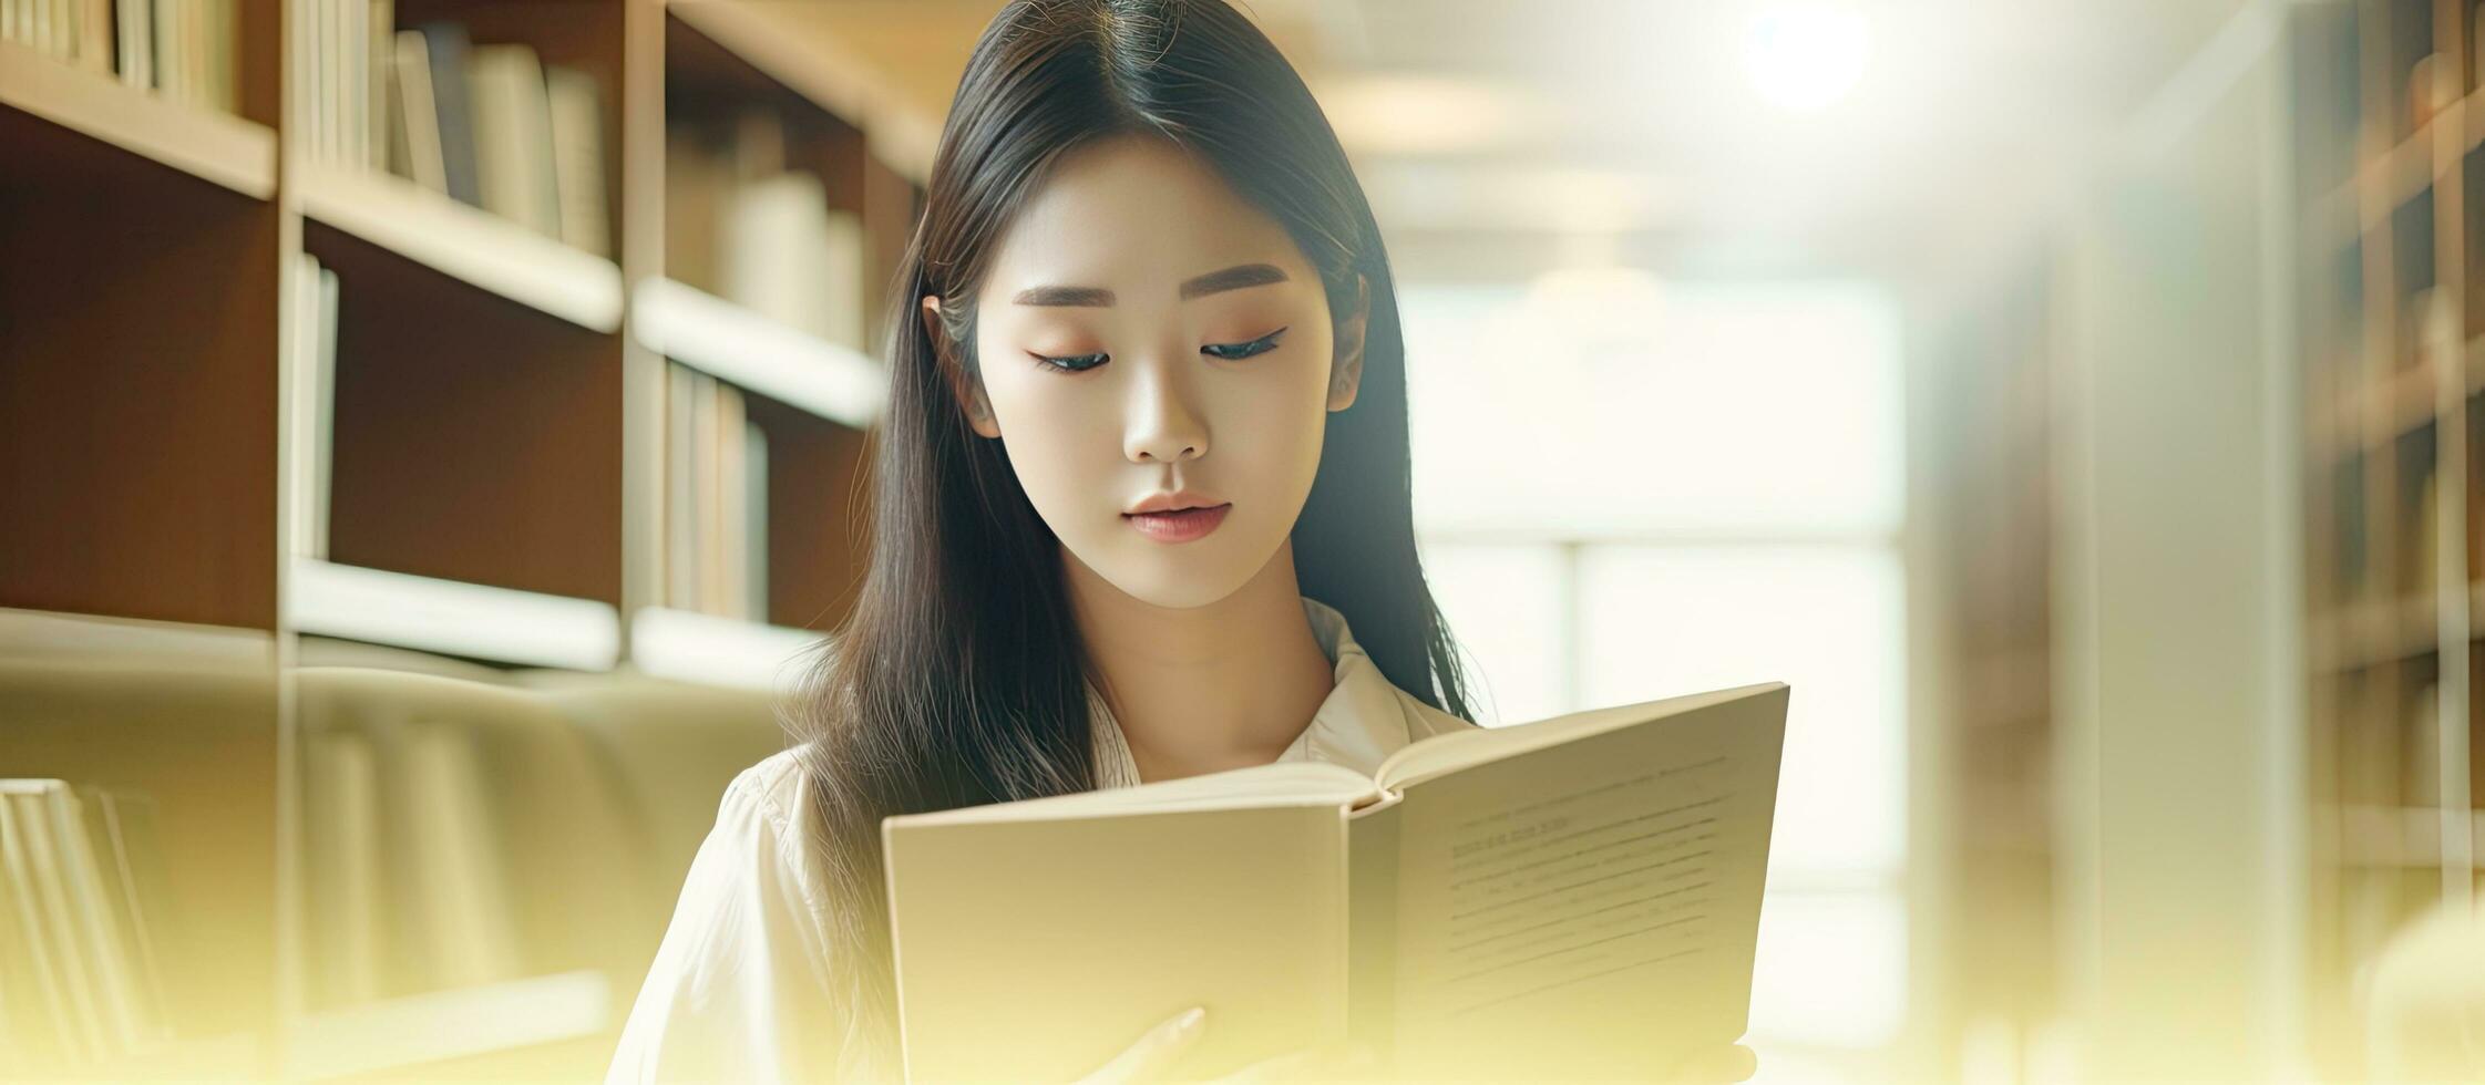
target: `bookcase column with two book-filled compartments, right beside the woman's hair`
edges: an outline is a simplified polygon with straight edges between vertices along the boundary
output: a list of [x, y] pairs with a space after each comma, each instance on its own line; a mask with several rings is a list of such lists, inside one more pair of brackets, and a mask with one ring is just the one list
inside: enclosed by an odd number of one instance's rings
[[900, 169], [924, 164], [922, 124], [785, 42], [753, 5], [663, 15], [661, 258], [631, 290], [656, 434], [634, 494], [661, 554], [631, 658], [656, 673], [758, 651], [750, 678], [778, 683], [800, 631], [845, 618], [870, 531], [882, 283], [919, 214]]

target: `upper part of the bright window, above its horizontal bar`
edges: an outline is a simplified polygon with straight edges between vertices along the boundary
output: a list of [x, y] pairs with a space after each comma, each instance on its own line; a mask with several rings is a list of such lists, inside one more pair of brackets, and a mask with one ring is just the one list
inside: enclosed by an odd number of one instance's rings
[[[1434, 534], [1876, 539], [1899, 529], [1896, 300], [1861, 283], [1548, 276], [1399, 290]], [[1528, 420], [1526, 439], [1476, 439]]]

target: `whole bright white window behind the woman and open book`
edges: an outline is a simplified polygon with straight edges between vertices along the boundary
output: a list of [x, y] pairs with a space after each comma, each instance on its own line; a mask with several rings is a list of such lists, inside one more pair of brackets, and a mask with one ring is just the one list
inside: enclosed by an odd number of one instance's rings
[[1399, 303], [1479, 723], [1787, 680], [1749, 1043], [1762, 1080], [1871, 1065], [1906, 1006], [1896, 305], [1630, 273]]

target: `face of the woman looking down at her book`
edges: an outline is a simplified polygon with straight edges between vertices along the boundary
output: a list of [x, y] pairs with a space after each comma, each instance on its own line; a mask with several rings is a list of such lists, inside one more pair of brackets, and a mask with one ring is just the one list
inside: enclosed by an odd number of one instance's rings
[[[1362, 372], [1364, 308], [1332, 325], [1285, 226], [1160, 139], [1064, 156], [974, 305], [974, 432], [1001, 439], [1074, 561], [1168, 608], [1267, 566]], [[1223, 511], [1133, 516], [1158, 494]]]

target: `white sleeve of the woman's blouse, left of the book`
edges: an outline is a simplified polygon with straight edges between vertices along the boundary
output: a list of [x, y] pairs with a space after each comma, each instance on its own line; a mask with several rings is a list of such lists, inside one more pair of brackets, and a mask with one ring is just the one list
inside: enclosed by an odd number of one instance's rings
[[609, 1085], [837, 1075], [845, 1018], [830, 996], [823, 869], [803, 849], [800, 795], [790, 755], [726, 787], [621, 1025]]

